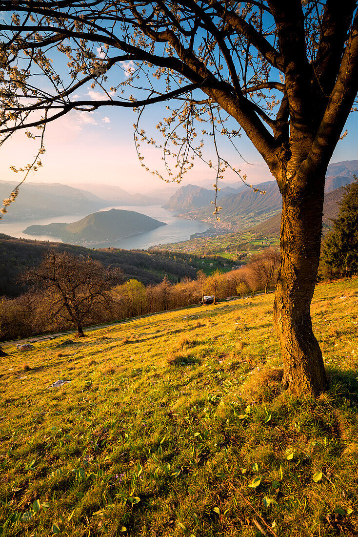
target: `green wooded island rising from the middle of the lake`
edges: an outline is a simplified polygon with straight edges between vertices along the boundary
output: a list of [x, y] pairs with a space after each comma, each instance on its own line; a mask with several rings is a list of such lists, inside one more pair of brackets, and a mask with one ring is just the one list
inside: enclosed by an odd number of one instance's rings
[[69, 244], [93, 246], [145, 233], [160, 226], [166, 226], [166, 224], [145, 214], [111, 209], [89, 214], [70, 224], [54, 222], [47, 226], [28, 226], [24, 233], [52, 235]]

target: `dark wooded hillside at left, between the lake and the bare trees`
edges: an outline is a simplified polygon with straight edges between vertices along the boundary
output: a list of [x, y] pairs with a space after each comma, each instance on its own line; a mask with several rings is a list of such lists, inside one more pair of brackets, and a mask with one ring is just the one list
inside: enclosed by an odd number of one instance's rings
[[0, 296], [18, 296], [23, 287], [18, 282], [20, 272], [38, 265], [49, 249], [72, 255], [91, 256], [106, 267], [120, 267], [126, 279], [135, 278], [143, 284], [158, 284], [164, 274], [174, 280], [184, 276], [195, 278], [189, 256], [164, 252], [134, 252], [129, 250], [89, 249], [59, 242], [30, 241], [0, 234]]

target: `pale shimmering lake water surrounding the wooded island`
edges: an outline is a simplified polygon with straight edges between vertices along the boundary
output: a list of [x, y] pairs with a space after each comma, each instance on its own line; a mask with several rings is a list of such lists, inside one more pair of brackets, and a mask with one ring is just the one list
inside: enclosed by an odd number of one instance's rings
[[[147, 250], [149, 246], [154, 244], [168, 244], [171, 242], [186, 241], [194, 233], [203, 233], [206, 231], [210, 224], [201, 222], [200, 220], [186, 220], [177, 218], [171, 211], [162, 209], [160, 205], [135, 205], [135, 206], [121, 206], [114, 205], [105, 207], [101, 211], [109, 211], [109, 209], [125, 209], [125, 211], [135, 211], [136, 213], [146, 214], [151, 216], [160, 222], [165, 222], [167, 226], [163, 226], [147, 233], [141, 233], [133, 237], [123, 238], [120, 241], [109, 242], [105, 244], [96, 244], [96, 248], [106, 248], [112, 246], [113, 248], [123, 248], [125, 250], [131, 250], [134, 248]], [[29, 218], [24, 220], [17, 220], [13, 222], [6, 222], [6, 216], [3, 220], [0, 220], [0, 233], [5, 235], [11, 235], [11, 237], [18, 238], [30, 238], [38, 241], [55, 241], [62, 242], [60, 238], [50, 235], [27, 235], [24, 233], [24, 229], [28, 226], [39, 224], [45, 226], [52, 222], [76, 222], [81, 220], [83, 215], [65, 215], [65, 216], [53, 216], [47, 218]]]

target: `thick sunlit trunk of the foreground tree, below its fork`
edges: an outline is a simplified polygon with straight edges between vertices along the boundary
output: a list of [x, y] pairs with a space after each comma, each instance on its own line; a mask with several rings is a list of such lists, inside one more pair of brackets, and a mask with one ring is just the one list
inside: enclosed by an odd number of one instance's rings
[[319, 264], [324, 180], [316, 177], [305, 184], [309, 186], [302, 192], [299, 180], [292, 180], [282, 192], [282, 258], [274, 321], [282, 353], [282, 384], [299, 396], [310, 397], [328, 384], [310, 313]]

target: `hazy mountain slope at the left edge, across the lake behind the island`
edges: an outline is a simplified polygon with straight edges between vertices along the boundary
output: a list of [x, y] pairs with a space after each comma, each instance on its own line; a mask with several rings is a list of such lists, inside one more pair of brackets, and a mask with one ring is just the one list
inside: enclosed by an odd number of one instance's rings
[[[0, 199], [8, 198], [17, 185], [14, 181], [0, 181]], [[24, 183], [19, 195], [6, 214], [6, 220], [84, 214], [98, 211], [108, 205], [90, 192], [60, 183]]]

